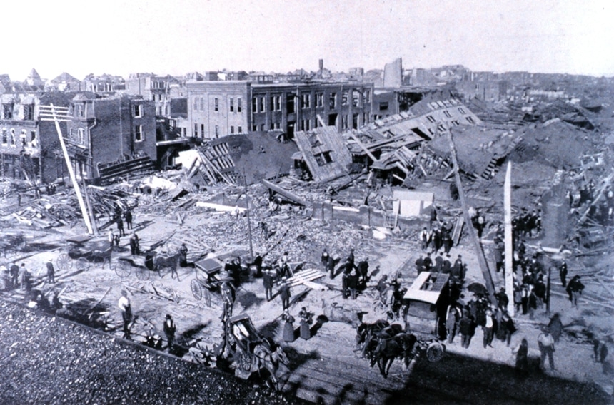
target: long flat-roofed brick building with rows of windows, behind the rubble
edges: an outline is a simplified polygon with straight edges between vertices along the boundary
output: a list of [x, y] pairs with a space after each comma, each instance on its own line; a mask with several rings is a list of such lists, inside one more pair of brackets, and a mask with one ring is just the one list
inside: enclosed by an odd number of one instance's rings
[[272, 83], [191, 81], [188, 134], [219, 138], [248, 131], [297, 130], [333, 125], [339, 131], [359, 128], [373, 119], [371, 83]]

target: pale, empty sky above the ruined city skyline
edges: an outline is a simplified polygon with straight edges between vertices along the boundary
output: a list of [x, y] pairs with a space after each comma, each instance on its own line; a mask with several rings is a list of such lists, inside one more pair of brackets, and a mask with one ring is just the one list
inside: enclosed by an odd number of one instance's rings
[[[1, 7], [0, 73], [287, 72], [462, 64], [614, 76], [614, 1], [88, 0]], [[15, 18], [6, 18], [15, 16]], [[12, 38], [11, 38], [12, 36]]]

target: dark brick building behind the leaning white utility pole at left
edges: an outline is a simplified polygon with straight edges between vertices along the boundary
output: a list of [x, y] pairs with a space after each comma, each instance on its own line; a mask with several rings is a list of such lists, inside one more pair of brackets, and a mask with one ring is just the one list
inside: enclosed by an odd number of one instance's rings
[[140, 97], [79, 93], [69, 106], [67, 148], [75, 173], [100, 177], [100, 165], [135, 156], [156, 160], [156, 108]]

